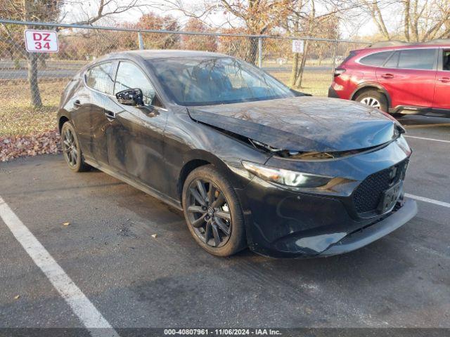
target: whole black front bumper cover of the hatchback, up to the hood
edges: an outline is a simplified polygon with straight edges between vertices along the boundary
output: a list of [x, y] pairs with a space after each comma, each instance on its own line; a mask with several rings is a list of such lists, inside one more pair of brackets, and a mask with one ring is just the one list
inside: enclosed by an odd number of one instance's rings
[[[267, 166], [340, 178], [326, 187], [307, 190], [254, 176], [238, 192], [250, 249], [274, 258], [330, 256], [358, 249], [404, 225], [416, 214], [416, 203], [405, 201], [399, 190], [394, 211], [383, 213], [379, 209], [384, 202], [379, 187], [381, 184], [387, 191], [384, 185], [388, 181], [403, 180], [407, 166], [401, 163], [410, 154], [396, 141], [380, 150], [339, 160], [309, 162], [271, 157]], [[395, 173], [394, 178], [391, 173]], [[372, 192], [379, 196], [378, 206], [373, 205]]]

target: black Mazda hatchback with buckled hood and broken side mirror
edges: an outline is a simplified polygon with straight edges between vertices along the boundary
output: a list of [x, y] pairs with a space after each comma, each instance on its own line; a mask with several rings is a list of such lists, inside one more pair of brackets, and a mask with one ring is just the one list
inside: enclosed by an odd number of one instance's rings
[[72, 171], [91, 167], [184, 212], [217, 256], [331, 256], [404, 225], [404, 128], [217, 53], [129, 51], [84, 67], [60, 101]]

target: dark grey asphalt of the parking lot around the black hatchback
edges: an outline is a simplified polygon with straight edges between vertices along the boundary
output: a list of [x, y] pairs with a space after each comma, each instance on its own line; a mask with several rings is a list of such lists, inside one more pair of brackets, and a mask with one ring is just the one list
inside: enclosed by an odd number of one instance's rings
[[[85, 296], [79, 310], [91, 303], [115, 328], [450, 327], [450, 119], [401, 122], [414, 151], [405, 190], [425, 201], [343, 256], [210, 256], [179, 211], [60, 155], [0, 164], [0, 197]], [[0, 326], [84, 326], [49, 273], [0, 218]]]

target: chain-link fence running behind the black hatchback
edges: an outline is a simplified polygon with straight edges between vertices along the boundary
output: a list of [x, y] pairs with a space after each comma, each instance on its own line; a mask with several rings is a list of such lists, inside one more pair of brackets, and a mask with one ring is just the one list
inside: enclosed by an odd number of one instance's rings
[[[326, 95], [336, 63], [364, 44], [303, 38], [304, 53], [292, 53], [292, 39], [236, 34], [134, 30], [0, 20], [1, 91], [32, 107], [56, 105], [65, 83], [83, 65], [114, 51], [185, 49], [233, 55], [262, 67], [291, 87]], [[58, 32], [58, 53], [28, 53], [25, 29]], [[301, 39], [301, 38], [300, 38]], [[304, 60], [303, 60], [304, 58]], [[293, 67], [293, 64], [295, 66]], [[4, 95], [1, 95], [4, 97]]]

